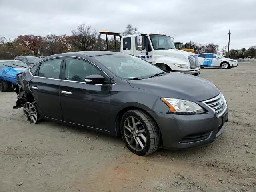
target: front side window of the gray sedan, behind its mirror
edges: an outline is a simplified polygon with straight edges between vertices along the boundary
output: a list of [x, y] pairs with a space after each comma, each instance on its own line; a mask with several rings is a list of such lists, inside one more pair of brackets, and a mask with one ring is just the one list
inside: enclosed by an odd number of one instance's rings
[[74, 58], [66, 59], [65, 66], [65, 79], [71, 81], [80, 81], [85, 82], [85, 78], [88, 75], [101, 75], [101, 72], [98, 68], [93, 66], [92, 64]]

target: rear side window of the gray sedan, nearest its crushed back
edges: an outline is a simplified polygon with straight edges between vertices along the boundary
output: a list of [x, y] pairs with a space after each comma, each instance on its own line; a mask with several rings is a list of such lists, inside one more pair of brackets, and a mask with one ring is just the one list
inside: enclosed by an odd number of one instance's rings
[[42, 62], [38, 76], [59, 79], [61, 60], [62, 58]]

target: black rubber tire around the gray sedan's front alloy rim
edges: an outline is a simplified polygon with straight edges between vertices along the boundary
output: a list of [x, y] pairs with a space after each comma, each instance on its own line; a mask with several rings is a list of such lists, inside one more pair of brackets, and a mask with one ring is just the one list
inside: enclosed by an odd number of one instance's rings
[[[141, 150], [136, 150], [130, 146], [130, 144], [127, 141], [127, 134], [125, 136], [124, 132], [126, 131], [126, 128], [124, 128], [124, 123], [128, 118], [135, 118], [136, 120], [140, 121], [140, 124], [142, 125], [144, 129], [144, 134], [146, 136], [146, 142], [144, 144], [144, 147]], [[134, 154], [137, 154], [139, 156], [147, 156], [149, 154], [154, 153], [160, 145], [160, 131], [158, 130], [158, 127], [154, 120], [146, 114], [146, 112], [142, 110], [129, 110], [127, 111], [121, 119], [121, 134], [122, 138], [128, 147], [128, 149], [133, 152]], [[132, 136], [132, 133], [131, 135]], [[133, 135], [134, 136], [134, 135]], [[132, 137], [133, 137], [132, 136]], [[136, 138], [138, 139], [137, 135]], [[142, 140], [140, 140], [142, 142]], [[137, 143], [137, 142], [136, 142]], [[141, 146], [140, 146], [141, 147]]]

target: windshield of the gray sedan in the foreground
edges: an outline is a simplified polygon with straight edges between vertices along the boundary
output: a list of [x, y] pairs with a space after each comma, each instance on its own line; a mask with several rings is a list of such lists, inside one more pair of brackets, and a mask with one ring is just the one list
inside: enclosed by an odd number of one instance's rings
[[156, 73], [164, 72], [153, 64], [132, 55], [101, 55], [94, 56], [94, 59], [123, 80], [148, 78]]

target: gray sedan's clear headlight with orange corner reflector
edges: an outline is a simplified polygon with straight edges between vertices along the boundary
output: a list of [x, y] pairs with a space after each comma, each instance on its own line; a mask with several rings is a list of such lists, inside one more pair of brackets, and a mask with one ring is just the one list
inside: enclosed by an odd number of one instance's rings
[[162, 97], [161, 100], [170, 108], [169, 113], [180, 115], [205, 113], [202, 107], [191, 101], [164, 97]]

